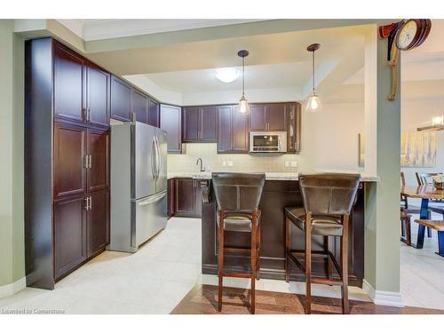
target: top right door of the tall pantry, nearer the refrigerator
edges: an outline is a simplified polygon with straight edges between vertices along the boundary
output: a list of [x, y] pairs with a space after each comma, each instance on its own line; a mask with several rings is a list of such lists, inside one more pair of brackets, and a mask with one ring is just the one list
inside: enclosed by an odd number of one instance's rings
[[86, 118], [93, 125], [109, 126], [110, 75], [92, 63], [86, 67]]

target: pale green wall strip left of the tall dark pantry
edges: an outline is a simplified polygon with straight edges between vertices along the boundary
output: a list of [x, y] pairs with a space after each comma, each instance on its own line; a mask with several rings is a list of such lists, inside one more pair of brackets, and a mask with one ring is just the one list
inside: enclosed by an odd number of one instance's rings
[[25, 274], [23, 209], [23, 40], [0, 20], [0, 286]]

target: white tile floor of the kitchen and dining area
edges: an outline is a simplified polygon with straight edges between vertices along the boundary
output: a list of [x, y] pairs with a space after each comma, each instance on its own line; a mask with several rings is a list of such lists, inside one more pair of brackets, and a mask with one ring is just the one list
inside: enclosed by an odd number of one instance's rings
[[[444, 258], [401, 246], [401, 291], [406, 305], [444, 308]], [[24, 289], [0, 299], [2, 309], [59, 309], [63, 313], [170, 313], [194, 284], [217, 284], [217, 276], [201, 274], [201, 220], [170, 218], [168, 226], [139, 252], [106, 251], [59, 281], [52, 291]], [[247, 279], [225, 278], [224, 284], [248, 287]], [[300, 293], [303, 282], [261, 279], [258, 289]], [[340, 297], [339, 287], [313, 285], [313, 295]], [[367, 300], [359, 288], [350, 298]]]

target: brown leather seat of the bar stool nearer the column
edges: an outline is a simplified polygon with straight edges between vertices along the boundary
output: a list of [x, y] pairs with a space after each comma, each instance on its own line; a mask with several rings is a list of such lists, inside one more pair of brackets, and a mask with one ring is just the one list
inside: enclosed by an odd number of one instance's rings
[[[288, 207], [285, 209], [285, 215], [291, 223], [305, 231], [304, 208]], [[312, 234], [321, 234], [322, 236], [341, 236], [343, 231], [340, 216], [313, 215], [311, 226]]]

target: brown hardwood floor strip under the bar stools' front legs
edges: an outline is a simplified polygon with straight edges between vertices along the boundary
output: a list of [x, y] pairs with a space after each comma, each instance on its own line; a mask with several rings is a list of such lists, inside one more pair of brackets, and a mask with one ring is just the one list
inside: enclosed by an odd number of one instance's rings
[[[250, 290], [224, 287], [222, 314], [250, 313]], [[304, 314], [305, 297], [273, 291], [256, 290], [257, 314]], [[350, 301], [350, 313], [356, 314], [427, 314], [442, 310], [421, 307], [392, 307], [369, 302]], [[171, 314], [218, 314], [218, 287], [196, 284]], [[341, 300], [312, 297], [312, 313], [339, 314]]]

